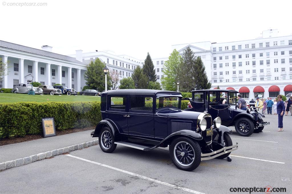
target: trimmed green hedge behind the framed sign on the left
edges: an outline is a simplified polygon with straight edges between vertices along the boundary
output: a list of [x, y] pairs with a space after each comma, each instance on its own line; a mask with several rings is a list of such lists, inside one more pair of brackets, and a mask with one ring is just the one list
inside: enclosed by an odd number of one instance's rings
[[0, 138], [42, 134], [41, 118], [54, 117], [59, 130], [96, 125], [100, 102], [18, 102], [0, 104]]

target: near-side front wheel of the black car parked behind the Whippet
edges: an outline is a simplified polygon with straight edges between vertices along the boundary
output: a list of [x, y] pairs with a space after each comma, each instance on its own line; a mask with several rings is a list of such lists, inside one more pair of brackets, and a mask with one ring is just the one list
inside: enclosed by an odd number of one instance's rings
[[254, 124], [248, 118], [240, 118], [235, 122], [235, 130], [240, 136], [250, 136], [254, 131]]

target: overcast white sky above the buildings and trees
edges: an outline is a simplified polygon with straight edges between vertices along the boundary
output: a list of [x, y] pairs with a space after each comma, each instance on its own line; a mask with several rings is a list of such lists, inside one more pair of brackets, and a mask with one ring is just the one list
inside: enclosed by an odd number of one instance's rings
[[[8, 6], [11, 2], [47, 6]], [[248, 40], [266, 29], [290, 35], [291, 7], [291, 0], [1, 0], [0, 40], [37, 49], [49, 45], [64, 55], [112, 50], [144, 60], [147, 52], [168, 57], [175, 44]]]

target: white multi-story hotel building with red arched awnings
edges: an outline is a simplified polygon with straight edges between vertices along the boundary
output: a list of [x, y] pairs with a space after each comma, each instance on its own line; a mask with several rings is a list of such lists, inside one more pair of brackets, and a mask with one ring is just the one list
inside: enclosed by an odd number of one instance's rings
[[[197, 42], [173, 45], [172, 49], [181, 55], [188, 46], [202, 58], [212, 88], [234, 89], [246, 99], [257, 94], [267, 98], [292, 92], [292, 35], [278, 37], [277, 30], [267, 30], [254, 40]], [[165, 58], [153, 59], [155, 69], [160, 71], [161, 60]]]

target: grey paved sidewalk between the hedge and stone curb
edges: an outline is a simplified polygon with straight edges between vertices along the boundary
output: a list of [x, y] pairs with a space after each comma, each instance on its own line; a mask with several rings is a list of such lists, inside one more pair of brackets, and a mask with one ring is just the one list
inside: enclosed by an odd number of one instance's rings
[[91, 131], [93, 130], [2, 145], [0, 163], [98, 139], [91, 138]]

